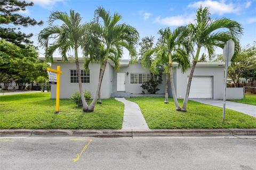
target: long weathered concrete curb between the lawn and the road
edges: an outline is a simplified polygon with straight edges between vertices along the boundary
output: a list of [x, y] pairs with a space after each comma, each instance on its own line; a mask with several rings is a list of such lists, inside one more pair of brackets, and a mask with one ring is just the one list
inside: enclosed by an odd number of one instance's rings
[[76, 137], [189, 137], [256, 135], [256, 129], [156, 129], [156, 130], [68, 130], [2, 129], [0, 137], [76, 136]]

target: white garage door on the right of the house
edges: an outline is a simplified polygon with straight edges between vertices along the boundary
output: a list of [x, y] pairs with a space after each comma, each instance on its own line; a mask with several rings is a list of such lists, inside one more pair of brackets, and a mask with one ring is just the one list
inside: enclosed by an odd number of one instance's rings
[[212, 77], [193, 76], [189, 98], [212, 98]]

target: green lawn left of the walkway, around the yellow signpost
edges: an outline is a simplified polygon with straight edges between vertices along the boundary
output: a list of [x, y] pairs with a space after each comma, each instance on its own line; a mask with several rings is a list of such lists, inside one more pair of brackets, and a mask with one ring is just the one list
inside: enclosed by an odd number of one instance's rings
[[0, 101], [0, 129], [122, 128], [124, 105], [115, 99], [102, 99], [92, 113], [84, 113], [70, 99], [61, 99], [59, 114], [53, 114], [55, 100], [46, 92], [6, 95]]

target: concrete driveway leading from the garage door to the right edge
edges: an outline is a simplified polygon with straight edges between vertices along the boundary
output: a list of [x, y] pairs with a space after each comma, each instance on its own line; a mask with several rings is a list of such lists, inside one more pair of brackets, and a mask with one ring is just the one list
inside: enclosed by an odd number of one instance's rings
[[[210, 99], [190, 99], [190, 100], [198, 101], [206, 105], [212, 105], [212, 106], [217, 106], [221, 108], [223, 107], [223, 100], [210, 100]], [[254, 105], [247, 105], [242, 103], [226, 101], [226, 108], [256, 117], [256, 106]]]

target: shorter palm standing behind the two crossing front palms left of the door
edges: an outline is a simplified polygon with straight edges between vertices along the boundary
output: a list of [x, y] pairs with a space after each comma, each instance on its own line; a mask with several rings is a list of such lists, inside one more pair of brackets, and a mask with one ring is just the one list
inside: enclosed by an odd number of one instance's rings
[[[100, 64], [100, 73], [101, 73], [106, 53], [107, 53], [107, 50], [106, 50], [105, 46], [102, 43], [100, 43], [99, 46], [97, 47], [97, 50], [95, 50], [93, 53], [90, 53], [89, 55], [87, 55], [85, 57], [85, 62], [84, 62], [85, 71], [90, 71], [90, 69], [89, 69], [90, 63], [98, 63], [98, 64]], [[116, 49], [114, 49], [114, 48], [109, 49], [108, 58], [109, 58], [109, 60], [113, 61], [113, 63], [115, 64], [115, 70], [119, 69], [119, 60], [121, 57], [122, 57], [121, 54], [118, 54]], [[102, 103], [101, 97], [100, 97], [100, 90], [98, 93], [97, 103], [98, 104]]]

